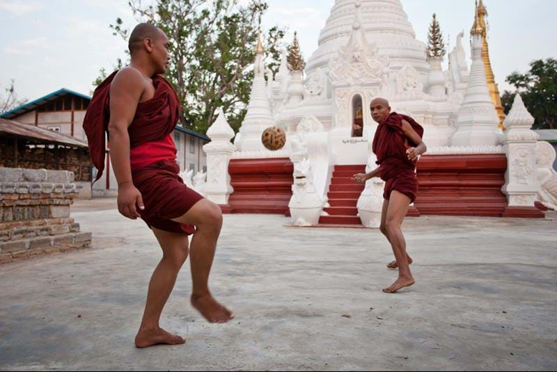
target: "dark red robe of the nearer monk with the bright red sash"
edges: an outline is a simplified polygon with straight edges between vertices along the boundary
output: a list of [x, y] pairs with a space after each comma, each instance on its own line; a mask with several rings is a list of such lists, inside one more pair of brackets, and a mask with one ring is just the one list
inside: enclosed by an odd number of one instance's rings
[[[95, 181], [104, 170], [105, 134], [108, 134], [110, 121], [110, 84], [116, 73], [113, 72], [95, 89], [83, 124], [91, 161], [98, 170]], [[152, 83], [155, 95], [137, 105], [134, 120], [127, 129], [132, 148], [162, 140], [173, 132], [178, 123], [180, 100], [174, 88], [159, 75], [152, 79]], [[187, 188], [178, 172], [180, 167], [175, 161], [159, 161], [134, 170], [132, 180], [145, 204], [145, 209], [138, 212], [149, 227], [192, 234], [194, 226], [176, 223], [171, 218], [183, 216], [203, 197]]]

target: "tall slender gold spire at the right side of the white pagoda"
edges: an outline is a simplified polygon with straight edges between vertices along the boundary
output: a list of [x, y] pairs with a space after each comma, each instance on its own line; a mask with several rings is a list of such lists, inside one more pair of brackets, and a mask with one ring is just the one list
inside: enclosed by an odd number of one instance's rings
[[487, 86], [489, 87], [489, 95], [492, 96], [492, 101], [497, 111], [497, 116], [499, 117], [499, 129], [504, 130], [503, 121], [505, 120], [505, 111], [503, 110], [503, 104], [501, 104], [501, 94], [499, 93], [499, 88], [495, 83], [495, 76], [493, 74], [492, 63], [489, 60], [489, 46], [487, 45], [487, 24], [485, 22], [485, 17], [487, 16], [487, 9], [483, 5], [483, 1], [476, 0], [476, 17], [474, 17], [474, 24], [470, 33], [472, 35], [481, 35], [483, 40], [482, 47], [482, 58], [483, 65], [485, 67], [485, 79], [487, 80]]

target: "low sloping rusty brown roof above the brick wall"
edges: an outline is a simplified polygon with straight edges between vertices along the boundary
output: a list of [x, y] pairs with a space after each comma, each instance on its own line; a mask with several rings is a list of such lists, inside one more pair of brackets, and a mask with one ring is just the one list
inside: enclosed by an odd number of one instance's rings
[[26, 138], [39, 143], [87, 147], [87, 143], [77, 138], [7, 119], [0, 119], [0, 134], [2, 136]]

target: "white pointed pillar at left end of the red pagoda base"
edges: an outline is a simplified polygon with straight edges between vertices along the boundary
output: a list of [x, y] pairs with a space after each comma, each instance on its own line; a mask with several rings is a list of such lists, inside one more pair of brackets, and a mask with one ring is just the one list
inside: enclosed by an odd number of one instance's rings
[[207, 154], [207, 184], [205, 194], [207, 199], [217, 204], [228, 204], [228, 197], [234, 189], [230, 186], [228, 163], [236, 147], [230, 143], [234, 131], [226, 121], [222, 108], [219, 117], [207, 130], [211, 142], [203, 146]]

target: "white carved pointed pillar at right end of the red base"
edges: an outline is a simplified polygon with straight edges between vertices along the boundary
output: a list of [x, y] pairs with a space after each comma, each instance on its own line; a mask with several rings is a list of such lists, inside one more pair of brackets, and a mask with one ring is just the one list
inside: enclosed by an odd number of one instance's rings
[[526, 110], [520, 95], [515, 96], [503, 124], [507, 129], [503, 144], [508, 165], [502, 191], [507, 195], [510, 207], [534, 207], [539, 188], [535, 163], [539, 136], [531, 130], [534, 118]]

